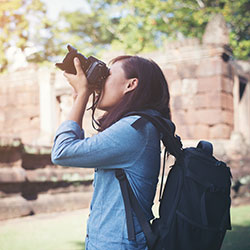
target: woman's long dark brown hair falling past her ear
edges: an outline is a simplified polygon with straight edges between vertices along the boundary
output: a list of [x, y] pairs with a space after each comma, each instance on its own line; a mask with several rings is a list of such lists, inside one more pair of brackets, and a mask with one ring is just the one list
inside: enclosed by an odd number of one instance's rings
[[130, 111], [154, 109], [171, 119], [168, 84], [160, 67], [153, 60], [139, 56], [119, 56], [111, 64], [118, 61], [122, 61], [126, 78], [137, 78], [138, 86], [99, 119], [98, 130], [103, 131]]

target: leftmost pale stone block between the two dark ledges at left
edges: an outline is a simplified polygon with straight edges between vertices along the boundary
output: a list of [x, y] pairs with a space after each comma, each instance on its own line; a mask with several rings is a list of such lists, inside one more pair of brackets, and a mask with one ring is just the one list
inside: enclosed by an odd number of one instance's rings
[[0, 168], [0, 183], [25, 182], [26, 173], [23, 168]]

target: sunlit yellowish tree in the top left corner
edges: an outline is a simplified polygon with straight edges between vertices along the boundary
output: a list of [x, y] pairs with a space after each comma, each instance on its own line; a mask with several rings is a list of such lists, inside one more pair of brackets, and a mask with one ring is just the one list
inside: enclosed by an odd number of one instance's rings
[[[6, 51], [10, 47], [30, 53], [30, 61], [48, 59], [51, 51], [49, 30], [52, 23], [46, 17], [46, 9], [40, 0], [2, 0], [0, 4], [0, 72], [7, 67]], [[46, 33], [42, 35], [43, 33]], [[53, 46], [52, 46], [53, 47]], [[54, 51], [54, 48], [52, 49]]]

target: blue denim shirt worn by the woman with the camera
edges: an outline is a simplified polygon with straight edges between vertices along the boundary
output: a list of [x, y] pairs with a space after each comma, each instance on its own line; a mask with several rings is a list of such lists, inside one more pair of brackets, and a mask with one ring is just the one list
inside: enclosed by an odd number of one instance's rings
[[87, 250], [147, 249], [146, 239], [133, 214], [136, 241], [129, 241], [123, 198], [116, 168], [123, 168], [148, 220], [160, 168], [159, 133], [150, 123], [131, 126], [139, 116], [129, 116], [90, 138], [71, 120], [58, 128], [52, 149], [54, 164], [95, 168], [94, 193], [87, 223]]

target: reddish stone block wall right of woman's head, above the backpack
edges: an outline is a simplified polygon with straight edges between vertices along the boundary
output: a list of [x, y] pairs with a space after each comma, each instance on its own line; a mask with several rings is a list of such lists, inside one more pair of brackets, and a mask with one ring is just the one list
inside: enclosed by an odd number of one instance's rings
[[[185, 55], [185, 47], [182, 55]], [[204, 56], [166, 65], [163, 70], [169, 82], [172, 119], [183, 139], [229, 139], [233, 131], [232, 67], [214, 48]], [[181, 49], [180, 49], [181, 50]], [[169, 67], [170, 66], [170, 67]]]

